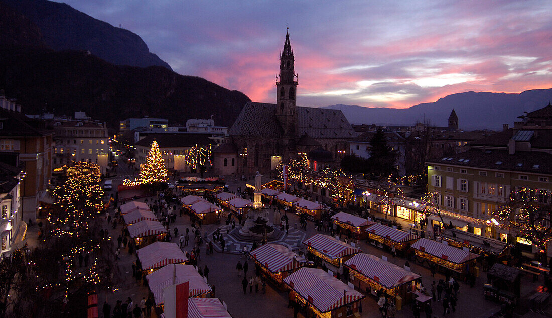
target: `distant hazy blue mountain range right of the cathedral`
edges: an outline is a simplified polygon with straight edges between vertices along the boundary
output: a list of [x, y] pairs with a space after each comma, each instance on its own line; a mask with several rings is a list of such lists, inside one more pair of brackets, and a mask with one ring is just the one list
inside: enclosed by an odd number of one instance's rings
[[447, 126], [450, 111], [458, 114], [460, 129], [501, 129], [512, 124], [523, 112], [542, 108], [552, 101], [552, 88], [530, 90], [519, 94], [466, 92], [439, 98], [409, 108], [362, 107], [332, 105], [324, 108], [341, 110], [351, 123], [412, 125], [429, 121], [434, 126]]

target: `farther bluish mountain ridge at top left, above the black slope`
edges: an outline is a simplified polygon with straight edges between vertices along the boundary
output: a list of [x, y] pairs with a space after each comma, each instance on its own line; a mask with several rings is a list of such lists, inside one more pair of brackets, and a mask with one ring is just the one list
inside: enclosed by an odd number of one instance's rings
[[94, 19], [68, 4], [46, 0], [1, 0], [33, 22], [44, 43], [54, 50], [90, 51], [115, 65], [163, 66], [135, 33]]

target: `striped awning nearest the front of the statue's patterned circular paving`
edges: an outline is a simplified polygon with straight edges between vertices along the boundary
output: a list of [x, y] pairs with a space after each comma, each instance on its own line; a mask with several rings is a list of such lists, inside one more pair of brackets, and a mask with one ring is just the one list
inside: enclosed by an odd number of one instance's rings
[[251, 251], [251, 256], [272, 273], [286, 272], [302, 267], [307, 261], [289, 248], [272, 243], [254, 249]]

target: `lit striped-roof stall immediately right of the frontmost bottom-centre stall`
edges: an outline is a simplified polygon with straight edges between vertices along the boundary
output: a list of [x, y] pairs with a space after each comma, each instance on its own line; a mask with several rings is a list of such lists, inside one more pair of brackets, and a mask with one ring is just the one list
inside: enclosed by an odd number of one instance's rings
[[383, 288], [386, 295], [407, 304], [422, 277], [374, 255], [358, 253], [343, 263], [349, 270], [349, 281], [359, 290], [376, 295]]

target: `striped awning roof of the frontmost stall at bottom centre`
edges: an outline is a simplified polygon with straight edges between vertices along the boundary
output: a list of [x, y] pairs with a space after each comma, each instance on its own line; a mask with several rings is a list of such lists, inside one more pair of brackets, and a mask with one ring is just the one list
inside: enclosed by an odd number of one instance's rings
[[284, 278], [284, 283], [320, 312], [328, 312], [364, 298], [363, 294], [318, 268], [301, 268]]

